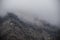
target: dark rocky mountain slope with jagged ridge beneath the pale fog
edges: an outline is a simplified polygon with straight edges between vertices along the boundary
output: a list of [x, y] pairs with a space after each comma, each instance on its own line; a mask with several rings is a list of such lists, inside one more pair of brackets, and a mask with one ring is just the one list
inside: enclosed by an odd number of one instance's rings
[[8, 13], [3, 20], [0, 26], [0, 40], [57, 40], [60, 38], [56, 36], [59, 35], [58, 28], [49, 24], [38, 27], [35, 24], [23, 22], [13, 13]]

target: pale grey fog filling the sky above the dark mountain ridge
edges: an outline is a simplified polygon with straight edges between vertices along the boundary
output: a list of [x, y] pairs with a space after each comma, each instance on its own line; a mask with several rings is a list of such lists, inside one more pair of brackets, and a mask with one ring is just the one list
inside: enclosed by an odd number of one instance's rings
[[30, 22], [36, 18], [58, 25], [58, 6], [58, 0], [0, 0], [0, 15], [13, 12]]

